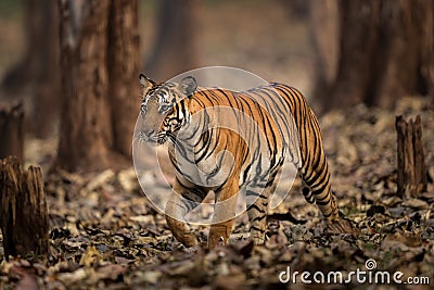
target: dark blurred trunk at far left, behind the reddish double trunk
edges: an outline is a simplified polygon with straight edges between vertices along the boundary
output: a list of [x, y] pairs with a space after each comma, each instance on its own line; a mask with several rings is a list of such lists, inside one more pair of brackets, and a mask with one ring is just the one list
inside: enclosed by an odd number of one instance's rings
[[12, 99], [29, 88], [33, 110], [27, 122], [39, 138], [49, 137], [60, 98], [59, 15], [56, 0], [24, 0], [25, 51], [3, 76], [1, 88]]

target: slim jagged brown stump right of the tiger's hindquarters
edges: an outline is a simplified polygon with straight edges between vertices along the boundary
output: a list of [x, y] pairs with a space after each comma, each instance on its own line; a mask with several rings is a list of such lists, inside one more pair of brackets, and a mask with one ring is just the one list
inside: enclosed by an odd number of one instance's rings
[[395, 127], [398, 137], [398, 196], [416, 198], [426, 190], [426, 166], [422, 143], [422, 126], [418, 115], [408, 123], [397, 116]]

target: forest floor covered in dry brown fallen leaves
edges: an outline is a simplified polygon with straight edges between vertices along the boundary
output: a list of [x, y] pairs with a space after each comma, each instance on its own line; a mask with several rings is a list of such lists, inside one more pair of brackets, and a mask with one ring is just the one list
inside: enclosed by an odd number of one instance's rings
[[[316, 283], [321, 273], [335, 272], [349, 283], [332, 288], [372, 287], [380, 273], [434, 285], [434, 103], [427, 99], [403, 99], [394, 112], [367, 109], [333, 111], [320, 118], [326, 151], [332, 168], [332, 185], [341, 212], [354, 222], [357, 235], [331, 234], [316, 206], [304, 201], [299, 182], [268, 220], [268, 240], [253, 247], [240, 239], [246, 231], [241, 216], [227, 245], [213, 251], [186, 249], [168, 230], [142, 193], [132, 168], [94, 175], [56, 173], [46, 177], [50, 214], [50, 255], [27, 256], [0, 264], [0, 289], [285, 289], [296, 281], [279, 281], [282, 272], [303, 273]], [[413, 199], [396, 196], [397, 161], [395, 116], [421, 115], [429, 186]], [[53, 150], [40, 151], [38, 141], [27, 151], [35, 162], [47, 164]], [[37, 155], [36, 155], [37, 154]], [[38, 160], [36, 160], [38, 159]], [[41, 160], [42, 159], [42, 160]], [[31, 161], [31, 157], [30, 157]], [[158, 186], [150, 175], [155, 190]], [[204, 243], [206, 227], [197, 227]], [[1, 236], [0, 236], [1, 237]], [[1, 239], [1, 238], [0, 238]], [[3, 260], [0, 248], [0, 260]], [[368, 261], [368, 262], [367, 262]], [[368, 268], [367, 268], [368, 267]], [[319, 273], [319, 274], [318, 274]], [[286, 275], [281, 276], [286, 278]], [[371, 277], [371, 278], [369, 278]], [[410, 280], [408, 280], [410, 281]], [[384, 288], [395, 287], [396, 285]], [[410, 285], [405, 285], [411, 288]]]

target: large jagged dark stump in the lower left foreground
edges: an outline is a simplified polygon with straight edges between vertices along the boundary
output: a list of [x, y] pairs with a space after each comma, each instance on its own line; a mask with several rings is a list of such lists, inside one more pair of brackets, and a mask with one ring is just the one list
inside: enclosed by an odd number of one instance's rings
[[4, 254], [48, 254], [49, 219], [42, 173], [23, 171], [15, 157], [0, 160], [0, 227]]

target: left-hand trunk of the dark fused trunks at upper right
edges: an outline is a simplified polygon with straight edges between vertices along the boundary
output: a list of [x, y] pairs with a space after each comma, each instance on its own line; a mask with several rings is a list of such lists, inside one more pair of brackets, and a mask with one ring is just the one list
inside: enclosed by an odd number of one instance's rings
[[340, 1], [341, 50], [332, 100], [326, 103], [350, 108], [363, 102], [371, 90], [380, 34], [381, 1]]

